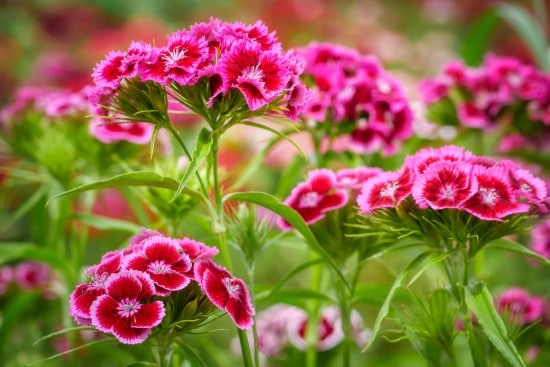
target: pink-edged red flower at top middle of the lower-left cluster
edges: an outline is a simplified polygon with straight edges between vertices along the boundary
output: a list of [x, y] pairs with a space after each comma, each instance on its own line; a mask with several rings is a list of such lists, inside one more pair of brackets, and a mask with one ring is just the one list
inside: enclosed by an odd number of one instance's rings
[[191, 269], [189, 256], [181, 253], [177, 241], [165, 236], [147, 238], [142, 251], [125, 259], [124, 267], [147, 273], [160, 296], [183, 289], [191, 281], [186, 275]]

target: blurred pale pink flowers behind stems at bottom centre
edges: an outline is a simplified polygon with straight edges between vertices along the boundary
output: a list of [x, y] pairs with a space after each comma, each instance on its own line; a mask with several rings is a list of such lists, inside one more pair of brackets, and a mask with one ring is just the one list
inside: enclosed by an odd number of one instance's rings
[[[279, 356], [283, 349], [292, 347], [305, 350], [308, 314], [301, 308], [279, 303], [263, 310], [256, 319], [258, 349], [268, 358]], [[357, 310], [351, 312], [350, 337], [362, 348], [370, 337], [370, 329], [363, 325], [363, 318]], [[319, 318], [319, 341], [317, 350], [326, 351], [344, 340], [342, 319], [336, 307], [325, 307]]]

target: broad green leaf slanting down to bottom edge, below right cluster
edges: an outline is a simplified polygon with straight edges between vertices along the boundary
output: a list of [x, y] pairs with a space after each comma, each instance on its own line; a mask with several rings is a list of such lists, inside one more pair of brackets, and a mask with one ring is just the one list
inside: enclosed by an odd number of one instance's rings
[[478, 283], [465, 289], [466, 304], [476, 315], [483, 332], [487, 338], [500, 352], [500, 354], [512, 366], [525, 367], [525, 362], [521, 358], [516, 346], [508, 337], [506, 326], [500, 318], [493, 304], [493, 296], [485, 286]]

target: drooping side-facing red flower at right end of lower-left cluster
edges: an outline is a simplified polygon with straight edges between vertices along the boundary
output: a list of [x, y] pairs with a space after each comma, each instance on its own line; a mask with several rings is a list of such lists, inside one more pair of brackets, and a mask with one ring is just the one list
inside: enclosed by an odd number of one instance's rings
[[255, 311], [244, 281], [210, 260], [195, 263], [195, 280], [210, 301], [227, 312], [238, 328], [252, 326]]

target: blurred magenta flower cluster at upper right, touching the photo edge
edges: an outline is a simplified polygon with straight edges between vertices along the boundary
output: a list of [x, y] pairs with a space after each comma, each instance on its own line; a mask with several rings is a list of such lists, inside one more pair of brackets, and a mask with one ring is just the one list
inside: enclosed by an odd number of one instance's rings
[[517, 147], [518, 139], [526, 142], [526, 137], [549, 133], [550, 75], [515, 58], [489, 55], [477, 68], [451, 61], [441, 75], [423, 80], [419, 89], [434, 122], [474, 129], [510, 123], [513, 134], [501, 149]]

